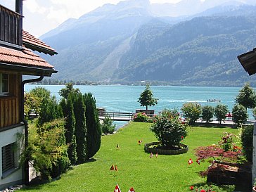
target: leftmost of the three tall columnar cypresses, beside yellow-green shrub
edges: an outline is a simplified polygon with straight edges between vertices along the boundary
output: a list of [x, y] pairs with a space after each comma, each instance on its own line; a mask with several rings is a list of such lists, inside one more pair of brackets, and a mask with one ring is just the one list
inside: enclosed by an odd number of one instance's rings
[[60, 105], [63, 107], [63, 115], [65, 116], [65, 139], [66, 142], [69, 144], [68, 146], [68, 158], [72, 165], [77, 163], [77, 143], [75, 137], [75, 115], [74, 115], [74, 108], [72, 103], [72, 96], [68, 96], [68, 100], [65, 101], [63, 98], [60, 101]]

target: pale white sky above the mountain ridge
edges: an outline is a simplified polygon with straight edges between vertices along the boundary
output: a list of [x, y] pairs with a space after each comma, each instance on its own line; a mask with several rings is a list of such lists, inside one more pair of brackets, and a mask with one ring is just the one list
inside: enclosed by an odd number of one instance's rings
[[[151, 4], [174, 4], [181, 0], [150, 0]], [[40, 37], [58, 27], [68, 18], [79, 18], [104, 4], [120, 0], [23, 0], [23, 29]], [[15, 11], [15, 0], [0, 0], [0, 4]]]

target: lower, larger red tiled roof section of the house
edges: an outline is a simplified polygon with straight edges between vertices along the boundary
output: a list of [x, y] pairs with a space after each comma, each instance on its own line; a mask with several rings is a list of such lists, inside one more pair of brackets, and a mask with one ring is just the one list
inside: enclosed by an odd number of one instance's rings
[[46, 60], [40, 58], [24, 46], [23, 51], [0, 46], [0, 63], [53, 69], [53, 65], [50, 65]]

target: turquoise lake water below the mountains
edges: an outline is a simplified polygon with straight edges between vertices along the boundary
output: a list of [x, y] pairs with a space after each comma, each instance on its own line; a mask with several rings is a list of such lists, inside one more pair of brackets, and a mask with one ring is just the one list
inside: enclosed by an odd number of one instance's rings
[[[25, 91], [30, 91], [39, 85], [26, 84]], [[40, 85], [51, 91], [52, 95], [60, 98], [58, 91], [65, 85]], [[98, 108], [105, 108], [107, 112], [129, 112], [135, 113], [136, 109], [143, 109], [138, 98], [145, 89], [144, 86], [122, 86], [122, 85], [75, 85], [82, 94], [91, 92], [96, 98]], [[228, 105], [231, 111], [235, 104], [235, 98], [241, 87], [179, 87], [179, 86], [151, 86], [154, 97], [158, 98], [158, 104], [148, 109], [153, 109], [156, 113], [162, 109], [169, 108], [180, 110], [186, 102], [198, 102], [203, 105], [215, 106], [217, 103]], [[207, 102], [209, 99], [219, 99], [221, 102]], [[252, 120], [252, 112], [248, 109], [249, 119]], [[124, 122], [117, 122], [117, 127]]]

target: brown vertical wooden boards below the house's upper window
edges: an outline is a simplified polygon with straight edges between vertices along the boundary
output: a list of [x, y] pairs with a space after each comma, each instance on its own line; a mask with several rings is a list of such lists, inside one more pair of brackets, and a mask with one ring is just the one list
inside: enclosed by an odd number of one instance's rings
[[19, 123], [19, 103], [16, 97], [0, 97], [0, 129]]

